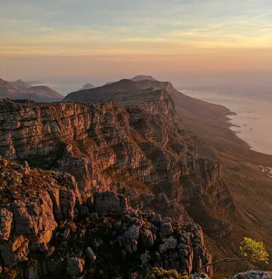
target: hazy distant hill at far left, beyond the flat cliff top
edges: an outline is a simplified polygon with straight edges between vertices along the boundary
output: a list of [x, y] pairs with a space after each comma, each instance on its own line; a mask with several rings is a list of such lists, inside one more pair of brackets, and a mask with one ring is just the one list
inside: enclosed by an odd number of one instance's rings
[[0, 79], [0, 98], [29, 99], [35, 101], [59, 101], [63, 96], [48, 86], [31, 86], [22, 80], [8, 82]]

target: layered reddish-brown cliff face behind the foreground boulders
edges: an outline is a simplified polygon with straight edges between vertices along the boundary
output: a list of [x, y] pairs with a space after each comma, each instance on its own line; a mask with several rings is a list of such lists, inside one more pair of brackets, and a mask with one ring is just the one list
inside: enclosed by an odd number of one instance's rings
[[[137, 94], [127, 91], [131, 84]], [[113, 102], [0, 100], [0, 155], [72, 174], [83, 199], [97, 190], [115, 190], [130, 202], [175, 220], [186, 217], [187, 211], [215, 234], [213, 227], [223, 221], [211, 218], [206, 205], [230, 199], [220, 165], [198, 156], [191, 134], [177, 119], [172, 98], [165, 89], [157, 90], [161, 83], [156, 90], [142, 90], [147, 85], [130, 80], [118, 86], [125, 94], [125, 107]], [[106, 96], [114, 94], [115, 87], [106, 87]], [[144, 194], [154, 198], [143, 201]], [[228, 233], [227, 223], [225, 228]]]

